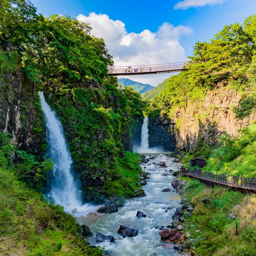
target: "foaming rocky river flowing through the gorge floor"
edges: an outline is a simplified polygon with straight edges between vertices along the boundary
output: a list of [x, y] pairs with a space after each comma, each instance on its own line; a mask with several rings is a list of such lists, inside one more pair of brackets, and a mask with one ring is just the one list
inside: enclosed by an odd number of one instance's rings
[[[166, 242], [160, 240], [159, 229], [156, 226], [166, 227], [172, 222], [172, 215], [176, 207], [180, 206], [180, 195], [174, 191], [171, 181], [174, 178], [169, 170], [179, 170], [179, 163], [173, 163], [173, 158], [165, 154], [147, 155], [155, 156], [147, 164], [142, 164], [142, 170], [150, 173], [147, 184], [143, 187], [146, 196], [128, 199], [124, 207], [115, 213], [90, 213], [87, 216], [77, 217], [77, 222], [89, 226], [93, 236], [89, 236], [87, 241], [93, 245], [104, 247], [113, 256], [170, 256], [180, 255], [173, 249], [173, 244], [168, 246]], [[160, 161], [164, 161], [167, 168], [157, 166]], [[156, 164], [153, 164], [156, 163]], [[148, 165], [151, 164], [151, 165]], [[167, 170], [167, 171], [165, 171]], [[167, 176], [164, 176], [167, 174]], [[164, 188], [171, 188], [171, 192], [162, 192]], [[165, 212], [166, 208], [172, 208]], [[100, 208], [100, 206], [99, 206]], [[136, 216], [137, 211], [147, 214], [145, 218]], [[124, 225], [139, 230], [138, 236], [123, 238], [117, 234], [120, 225]], [[96, 244], [96, 232], [104, 235], [111, 235], [116, 238], [114, 243]]]

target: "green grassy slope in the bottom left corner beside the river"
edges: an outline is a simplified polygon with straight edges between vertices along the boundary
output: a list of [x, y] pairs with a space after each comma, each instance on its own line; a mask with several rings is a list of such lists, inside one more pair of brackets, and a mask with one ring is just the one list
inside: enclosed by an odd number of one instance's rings
[[76, 220], [17, 180], [0, 155], [0, 255], [100, 256], [79, 235]]

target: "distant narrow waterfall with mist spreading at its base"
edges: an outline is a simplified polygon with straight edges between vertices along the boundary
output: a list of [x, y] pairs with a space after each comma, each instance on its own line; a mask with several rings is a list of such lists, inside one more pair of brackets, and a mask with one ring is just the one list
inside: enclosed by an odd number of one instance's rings
[[141, 143], [137, 148], [133, 148], [133, 151], [138, 153], [162, 153], [164, 149], [162, 147], [157, 148], [149, 148], [148, 144], [148, 117], [145, 117], [143, 120], [142, 128], [141, 128]]

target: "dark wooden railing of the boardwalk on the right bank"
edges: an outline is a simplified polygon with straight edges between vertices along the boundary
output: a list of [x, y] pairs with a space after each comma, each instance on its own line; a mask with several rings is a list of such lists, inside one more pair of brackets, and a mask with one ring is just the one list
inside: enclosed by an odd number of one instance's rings
[[200, 170], [187, 170], [182, 171], [181, 175], [183, 176], [191, 176], [203, 180], [213, 181], [215, 183], [223, 184], [223, 185], [232, 185], [236, 187], [243, 188], [256, 188], [256, 179], [255, 178], [246, 178], [242, 176], [230, 176], [225, 174], [214, 174], [212, 172], [203, 172]]

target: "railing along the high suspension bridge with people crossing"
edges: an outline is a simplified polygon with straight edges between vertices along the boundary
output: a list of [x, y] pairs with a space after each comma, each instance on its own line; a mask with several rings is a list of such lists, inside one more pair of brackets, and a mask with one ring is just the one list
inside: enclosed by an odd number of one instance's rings
[[122, 67], [108, 67], [108, 74], [127, 74], [127, 73], [152, 73], [165, 72], [171, 70], [182, 70], [188, 66], [187, 62], [144, 65], [144, 66], [122, 66]]

